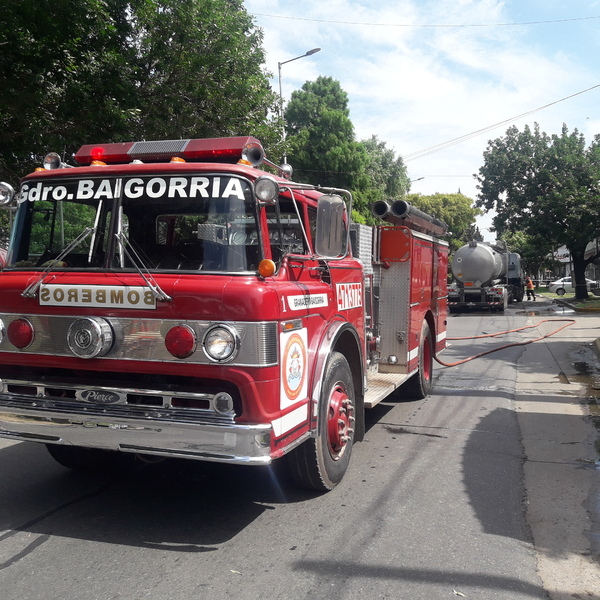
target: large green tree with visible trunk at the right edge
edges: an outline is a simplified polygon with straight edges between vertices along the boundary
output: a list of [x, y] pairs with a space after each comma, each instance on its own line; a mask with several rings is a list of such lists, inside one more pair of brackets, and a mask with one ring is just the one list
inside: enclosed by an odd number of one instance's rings
[[479, 169], [477, 206], [496, 210], [499, 234], [522, 231], [554, 246], [565, 245], [573, 260], [575, 296], [588, 297], [588, 242], [600, 236], [600, 136], [586, 148], [577, 129], [548, 136], [535, 124], [507, 130], [489, 142]]

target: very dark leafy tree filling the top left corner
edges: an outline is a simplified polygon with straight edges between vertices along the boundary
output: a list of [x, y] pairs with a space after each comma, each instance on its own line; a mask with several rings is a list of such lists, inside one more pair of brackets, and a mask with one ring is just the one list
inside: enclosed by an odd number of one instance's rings
[[[122, 4], [119, 7], [117, 4]], [[36, 154], [124, 134], [131, 53], [124, 2], [8, 2], [0, 11], [0, 169], [16, 183]]]

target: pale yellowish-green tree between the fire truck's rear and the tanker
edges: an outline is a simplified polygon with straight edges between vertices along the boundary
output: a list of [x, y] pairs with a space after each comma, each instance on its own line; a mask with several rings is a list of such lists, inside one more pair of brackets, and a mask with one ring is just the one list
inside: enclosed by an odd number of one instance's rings
[[471, 239], [477, 238], [479, 230], [475, 225], [475, 218], [481, 214], [481, 210], [473, 206], [471, 198], [461, 193], [431, 196], [409, 194], [406, 200], [415, 208], [448, 225], [446, 237], [451, 251], [458, 250]]

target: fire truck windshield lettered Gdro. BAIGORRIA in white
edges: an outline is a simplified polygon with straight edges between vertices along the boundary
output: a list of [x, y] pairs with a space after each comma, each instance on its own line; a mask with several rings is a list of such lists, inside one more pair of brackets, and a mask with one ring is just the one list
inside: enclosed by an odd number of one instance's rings
[[26, 181], [6, 268], [136, 270], [129, 246], [149, 270], [254, 271], [257, 222], [249, 183], [233, 176]]

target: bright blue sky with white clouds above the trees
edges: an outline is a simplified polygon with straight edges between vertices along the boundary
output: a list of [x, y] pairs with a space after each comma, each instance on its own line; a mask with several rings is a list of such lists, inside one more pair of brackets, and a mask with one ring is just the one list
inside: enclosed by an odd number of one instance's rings
[[[600, 134], [600, 0], [246, 0], [245, 6], [263, 29], [274, 89], [278, 62], [320, 47], [283, 65], [284, 99], [319, 76], [339, 81], [357, 139], [377, 135], [402, 155], [418, 180], [412, 192], [460, 189], [474, 199], [483, 151], [510, 125], [537, 122], [552, 134], [566, 123], [588, 143]], [[580, 93], [593, 86], [599, 87]], [[515, 118], [525, 113], [531, 114]], [[483, 217], [479, 225], [492, 240], [489, 221]]]

